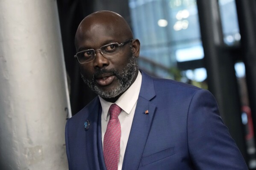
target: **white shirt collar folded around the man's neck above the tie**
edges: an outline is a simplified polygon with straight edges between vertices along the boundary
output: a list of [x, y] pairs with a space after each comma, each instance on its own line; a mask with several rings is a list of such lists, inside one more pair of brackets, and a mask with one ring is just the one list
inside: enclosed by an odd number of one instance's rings
[[[136, 80], [133, 82], [133, 84], [118, 98], [118, 100], [115, 102], [119, 107], [121, 107], [124, 112], [129, 114], [132, 110], [132, 107], [135, 105], [135, 103], [138, 100], [138, 95], [141, 89], [141, 81], [142, 81], [142, 75], [141, 72], [138, 72]], [[109, 107], [113, 104], [109, 101], [105, 101], [103, 98], [100, 98], [100, 104], [102, 107], [102, 114], [103, 118], [107, 120], [107, 115], [109, 112]]]

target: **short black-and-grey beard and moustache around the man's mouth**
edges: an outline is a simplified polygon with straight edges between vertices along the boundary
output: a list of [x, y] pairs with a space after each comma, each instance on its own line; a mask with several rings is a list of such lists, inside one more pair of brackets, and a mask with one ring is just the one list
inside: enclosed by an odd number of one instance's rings
[[[122, 72], [118, 72], [115, 69], [102, 69], [96, 72], [93, 75], [93, 78], [85, 78], [82, 73], [81, 77], [85, 84], [87, 84], [92, 91], [94, 91], [97, 95], [102, 98], [115, 98], [116, 96], [120, 95], [121, 93], [125, 92], [129, 86], [132, 84], [132, 80], [136, 75], [136, 70], [138, 68], [138, 64], [136, 62], [135, 56], [129, 58], [127, 65], [124, 67]], [[97, 75], [101, 75], [103, 73], [112, 73], [118, 79], [118, 86], [116, 89], [112, 89], [110, 91], [104, 91], [100, 89], [95, 83], [95, 77]]]

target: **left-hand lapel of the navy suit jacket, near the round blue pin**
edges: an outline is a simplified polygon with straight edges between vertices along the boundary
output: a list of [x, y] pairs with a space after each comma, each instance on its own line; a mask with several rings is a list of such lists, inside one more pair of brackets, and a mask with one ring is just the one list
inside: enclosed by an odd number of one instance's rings
[[[89, 129], [85, 131], [86, 136], [86, 150], [89, 167], [91, 170], [100, 170], [98, 147], [97, 147], [97, 128], [98, 128], [98, 115], [101, 114], [100, 100], [96, 99], [94, 106], [88, 111], [88, 121], [90, 122]], [[101, 140], [101, 138], [100, 138]], [[102, 150], [102, 149], [101, 149]]]

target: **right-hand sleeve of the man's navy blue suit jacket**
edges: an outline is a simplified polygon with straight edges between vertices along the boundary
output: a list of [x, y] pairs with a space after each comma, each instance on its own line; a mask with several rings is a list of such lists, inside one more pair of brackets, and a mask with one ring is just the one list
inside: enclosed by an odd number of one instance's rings
[[188, 109], [187, 132], [189, 154], [196, 169], [248, 169], [209, 91], [194, 93]]

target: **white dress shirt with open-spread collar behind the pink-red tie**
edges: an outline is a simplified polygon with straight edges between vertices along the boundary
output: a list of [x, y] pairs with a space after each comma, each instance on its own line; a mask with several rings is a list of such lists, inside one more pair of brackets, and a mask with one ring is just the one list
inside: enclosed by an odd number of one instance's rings
[[[130, 130], [132, 127], [132, 120], [135, 112], [135, 108], [138, 101], [138, 95], [141, 89], [142, 75], [141, 72], [138, 72], [138, 76], [133, 84], [122, 94], [118, 100], [115, 102], [122, 111], [118, 115], [118, 119], [121, 124], [121, 141], [120, 141], [120, 155], [118, 161], [118, 170], [122, 169], [124, 153], [129, 138]], [[100, 98], [100, 104], [102, 107], [101, 114], [101, 135], [102, 135], [102, 145], [104, 140], [104, 135], [106, 133], [107, 124], [109, 122], [109, 107], [111, 102], [105, 101], [103, 98]], [[104, 150], [104, 148], [103, 148]]]

